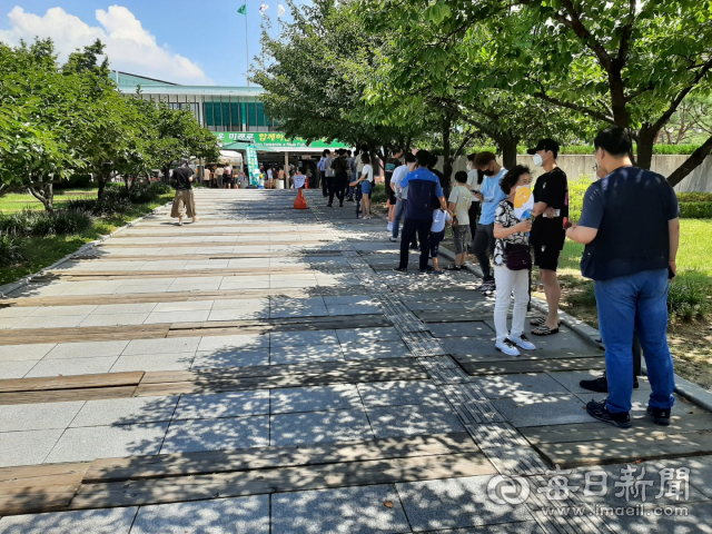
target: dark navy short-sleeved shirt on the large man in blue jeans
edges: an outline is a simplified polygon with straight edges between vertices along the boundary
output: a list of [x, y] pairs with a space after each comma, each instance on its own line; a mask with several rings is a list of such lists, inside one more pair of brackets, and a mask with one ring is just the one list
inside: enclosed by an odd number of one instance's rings
[[578, 226], [596, 228], [586, 245], [581, 271], [609, 280], [644, 270], [666, 269], [669, 221], [680, 217], [678, 197], [661, 175], [621, 167], [589, 186]]

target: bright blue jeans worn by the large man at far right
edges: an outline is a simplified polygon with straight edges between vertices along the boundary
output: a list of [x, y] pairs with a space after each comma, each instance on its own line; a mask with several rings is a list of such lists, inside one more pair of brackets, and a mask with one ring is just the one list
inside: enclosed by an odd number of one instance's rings
[[634, 332], [641, 340], [653, 389], [649, 405], [670, 408], [674, 403], [675, 374], [668, 346], [669, 288], [668, 269], [595, 283], [609, 380], [606, 405], [612, 413], [631, 411]]

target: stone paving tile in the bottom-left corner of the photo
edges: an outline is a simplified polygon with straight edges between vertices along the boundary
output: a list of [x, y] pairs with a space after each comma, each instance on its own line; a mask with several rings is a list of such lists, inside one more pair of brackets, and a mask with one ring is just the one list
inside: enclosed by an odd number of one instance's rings
[[129, 534], [136, 506], [11, 515], [0, 520], [0, 534]]

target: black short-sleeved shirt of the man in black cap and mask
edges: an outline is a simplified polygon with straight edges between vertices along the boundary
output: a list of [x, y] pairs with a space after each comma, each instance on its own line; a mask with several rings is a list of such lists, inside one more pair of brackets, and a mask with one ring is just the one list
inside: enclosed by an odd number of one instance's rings
[[557, 217], [540, 215], [532, 224], [532, 245], [535, 247], [554, 247], [561, 250], [566, 240], [564, 218], [568, 218], [568, 180], [566, 172], [558, 167], [543, 174], [534, 184], [534, 202], [546, 202], [546, 206], [558, 210]]

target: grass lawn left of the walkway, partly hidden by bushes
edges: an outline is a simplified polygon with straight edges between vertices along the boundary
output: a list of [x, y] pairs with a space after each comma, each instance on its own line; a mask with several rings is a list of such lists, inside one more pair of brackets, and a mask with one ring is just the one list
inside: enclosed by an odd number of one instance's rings
[[[91, 191], [91, 195], [96, 195], [96, 190]], [[0, 198], [0, 201], [6, 200], [8, 196]], [[24, 199], [27, 200], [29, 195], [22, 195], [22, 197], [24, 197]], [[30, 198], [34, 200], [33, 197]], [[16, 281], [19, 278], [34, 274], [38, 270], [52, 265], [58, 259], [61, 259], [68, 254], [71, 254], [79, 249], [79, 247], [81, 247], [83, 244], [93, 241], [101, 236], [110, 234], [117, 228], [126, 225], [128, 221], [149, 214], [155, 208], [162, 206], [169, 200], [172, 200], [172, 194], [164, 195], [157, 202], [137, 205], [134, 207], [134, 209], [127, 211], [126, 214], [107, 218], [97, 218], [95, 219], [92, 227], [80, 235], [28, 237], [23, 239], [22, 255], [24, 256], [24, 260], [16, 265], [0, 268], [0, 286], [3, 284]], [[43, 209], [42, 205], [39, 201], [34, 201], [41, 209]], [[6, 209], [4, 202], [0, 204], [0, 209]]]

